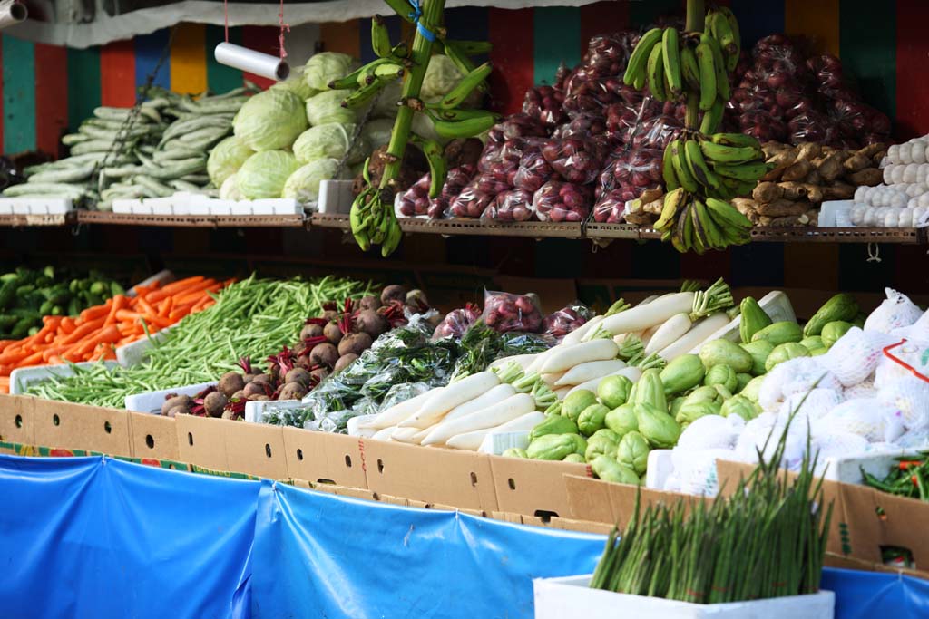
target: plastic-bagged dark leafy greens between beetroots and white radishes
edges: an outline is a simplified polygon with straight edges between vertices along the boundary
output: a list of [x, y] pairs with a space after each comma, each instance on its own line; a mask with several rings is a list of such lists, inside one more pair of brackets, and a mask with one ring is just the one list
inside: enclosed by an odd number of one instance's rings
[[435, 325], [413, 316], [406, 327], [379, 337], [347, 368], [323, 380], [307, 395], [306, 406], [274, 410], [266, 422], [345, 432], [347, 420], [449, 384], [511, 355], [539, 353], [550, 342], [532, 333], [497, 333], [482, 322], [453, 336], [433, 340]]

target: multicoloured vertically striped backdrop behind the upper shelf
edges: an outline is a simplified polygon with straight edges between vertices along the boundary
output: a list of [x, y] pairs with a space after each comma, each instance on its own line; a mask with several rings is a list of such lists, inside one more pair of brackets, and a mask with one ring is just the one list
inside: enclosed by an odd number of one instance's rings
[[[929, 58], [929, 39], [920, 24], [929, 22], [929, 2], [896, 0], [724, 0], [739, 16], [745, 45], [770, 32], [814, 37], [824, 50], [839, 55], [857, 76], [867, 101], [896, 120], [900, 137], [929, 133], [929, 81], [920, 78]], [[582, 56], [597, 32], [647, 23], [683, 0], [598, 2], [580, 8], [456, 8], [448, 13], [451, 32], [466, 39], [490, 39], [496, 105], [516, 110], [533, 83], [552, 79], [561, 61]], [[392, 19], [396, 36], [410, 32]], [[324, 49], [365, 58], [370, 50], [370, 21], [326, 23], [320, 28]], [[218, 65], [212, 50], [223, 38], [218, 26], [177, 27], [164, 66], [154, 83], [177, 91], [224, 91], [242, 82], [241, 71]], [[156, 66], [168, 32], [159, 31], [92, 49], [65, 49], [0, 36], [3, 67], [0, 91], [0, 143], [3, 152], [33, 148], [55, 152], [59, 135], [90, 115], [98, 105], [131, 105], [136, 88]], [[231, 31], [233, 43], [277, 52], [273, 27]], [[254, 79], [254, 77], [253, 77]], [[260, 79], [255, 80], [261, 82]]]

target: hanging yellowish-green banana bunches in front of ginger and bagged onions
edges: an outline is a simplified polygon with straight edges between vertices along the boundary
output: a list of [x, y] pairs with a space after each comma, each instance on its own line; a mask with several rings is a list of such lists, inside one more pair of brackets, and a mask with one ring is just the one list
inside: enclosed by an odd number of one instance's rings
[[728, 200], [750, 194], [769, 170], [754, 137], [716, 133], [731, 95], [729, 73], [739, 62], [739, 22], [721, 6], [705, 24], [704, 32], [646, 32], [622, 78], [637, 89], [648, 86], [660, 101], [687, 102], [687, 128], [664, 150], [668, 193], [655, 223], [661, 239], [682, 252], [749, 242], [752, 223]]

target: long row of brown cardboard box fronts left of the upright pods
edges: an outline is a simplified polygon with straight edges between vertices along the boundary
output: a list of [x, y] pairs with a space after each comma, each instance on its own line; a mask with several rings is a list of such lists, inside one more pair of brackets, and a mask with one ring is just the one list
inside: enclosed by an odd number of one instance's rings
[[0, 395], [0, 440], [179, 460], [215, 471], [302, 479], [485, 512], [569, 516], [565, 474], [586, 465], [500, 458], [243, 421], [174, 419]]

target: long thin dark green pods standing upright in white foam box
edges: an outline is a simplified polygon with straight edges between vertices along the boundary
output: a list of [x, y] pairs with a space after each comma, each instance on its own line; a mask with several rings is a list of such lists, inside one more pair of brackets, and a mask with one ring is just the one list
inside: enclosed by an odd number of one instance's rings
[[732, 496], [644, 513], [636, 496], [633, 518], [622, 536], [608, 536], [590, 586], [699, 604], [818, 591], [832, 506], [824, 508], [808, 438], [796, 478], [780, 471], [787, 432], [768, 461], [759, 450], [758, 468]]

